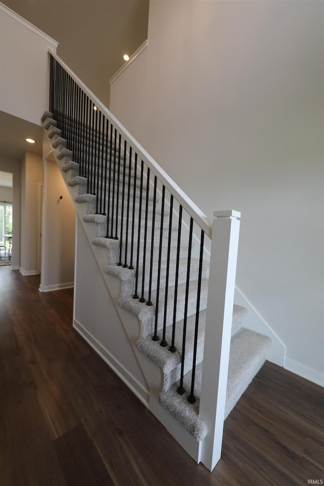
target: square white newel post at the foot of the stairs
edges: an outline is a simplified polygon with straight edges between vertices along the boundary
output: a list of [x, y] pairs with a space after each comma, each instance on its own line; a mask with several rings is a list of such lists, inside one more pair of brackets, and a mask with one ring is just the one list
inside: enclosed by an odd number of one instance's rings
[[199, 416], [208, 425], [201, 462], [212, 471], [221, 457], [240, 213], [215, 211]]

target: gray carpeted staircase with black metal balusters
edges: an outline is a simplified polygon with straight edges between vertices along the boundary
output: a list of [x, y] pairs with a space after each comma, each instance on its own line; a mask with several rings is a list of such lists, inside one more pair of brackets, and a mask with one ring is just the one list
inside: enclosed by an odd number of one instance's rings
[[[210, 432], [200, 413], [205, 325], [211, 320], [206, 231], [156, 173], [152, 179], [152, 170], [112, 123], [98, 115], [95, 103], [86, 102], [78, 86], [74, 91], [71, 74], [62, 66], [51, 56], [52, 111], [42, 121], [53, 155], [70, 190], [77, 189], [76, 211], [85, 224], [96, 227], [91, 243], [106, 251], [102, 272], [121, 282], [118, 306], [138, 319], [137, 350], [163, 374], [158, 404], [151, 410], [163, 409], [156, 413], [160, 420], [170, 414], [203, 444]], [[67, 99], [62, 90], [68, 92]], [[224, 419], [263, 365], [270, 344], [267, 336], [244, 328], [244, 307], [234, 304], [230, 313]]]

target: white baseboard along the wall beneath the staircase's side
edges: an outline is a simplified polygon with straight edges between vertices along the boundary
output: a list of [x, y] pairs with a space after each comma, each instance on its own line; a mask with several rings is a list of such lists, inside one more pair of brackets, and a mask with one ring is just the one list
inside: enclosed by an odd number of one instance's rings
[[130, 390], [137, 396], [139, 400], [148, 408], [149, 406], [149, 391], [134, 378], [128, 370], [112, 356], [112, 354], [99, 341], [92, 336], [89, 331], [82, 326], [78, 320], [73, 319], [73, 328], [77, 331], [90, 346], [102, 357], [107, 365], [116, 373], [116, 375], [123, 380]]

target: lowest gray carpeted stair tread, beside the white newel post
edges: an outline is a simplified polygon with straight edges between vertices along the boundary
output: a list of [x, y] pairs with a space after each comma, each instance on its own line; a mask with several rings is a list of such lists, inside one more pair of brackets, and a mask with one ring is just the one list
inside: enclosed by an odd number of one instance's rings
[[[246, 328], [241, 328], [231, 338], [224, 419], [262, 367], [270, 342], [269, 337]], [[195, 403], [190, 404], [187, 401], [190, 394], [191, 371], [184, 376], [183, 387], [186, 391], [183, 395], [177, 392], [180, 382], [160, 394], [161, 405], [197, 440], [202, 440], [204, 432], [207, 433], [207, 427], [202, 427], [198, 416], [202, 364], [199, 363], [195, 372]]]

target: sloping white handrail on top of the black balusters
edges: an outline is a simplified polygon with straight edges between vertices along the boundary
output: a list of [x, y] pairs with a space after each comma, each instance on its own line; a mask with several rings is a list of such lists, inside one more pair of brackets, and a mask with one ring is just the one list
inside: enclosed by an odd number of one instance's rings
[[173, 194], [178, 203], [183, 209], [192, 217], [192, 219], [204, 230], [205, 234], [212, 238], [213, 225], [210, 219], [193, 203], [190, 197], [174, 182], [171, 177], [156, 163], [149, 153], [138, 143], [138, 141], [126, 130], [126, 128], [119, 123], [117, 118], [106, 108], [106, 106], [87, 88], [87, 86], [71, 71], [71, 69], [60, 59], [50, 48], [48, 52], [61, 64], [66, 72], [71, 76], [75, 83], [81, 88], [91, 101], [100, 109], [101, 113], [111, 121], [114, 128], [118, 130], [120, 135], [126, 140], [137, 152], [139, 157], [144, 161], [147, 167], [153, 172], [158, 180], [166, 187], [166, 189]]

